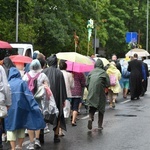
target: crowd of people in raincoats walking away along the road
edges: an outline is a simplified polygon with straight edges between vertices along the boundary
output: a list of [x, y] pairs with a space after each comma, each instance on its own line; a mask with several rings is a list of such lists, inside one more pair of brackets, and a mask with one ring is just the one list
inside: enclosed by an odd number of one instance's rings
[[[45, 97], [54, 98], [56, 106], [53, 120], [54, 143], [65, 136], [66, 118], [71, 119], [72, 127], [77, 126], [77, 115], [83, 104], [86, 92], [86, 105], [89, 119], [87, 127], [92, 129], [95, 112], [98, 111], [98, 128], [103, 129], [105, 105], [109, 101], [110, 109], [115, 109], [118, 94], [123, 98], [140, 99], [147, 91], [148, 67], [134, 54], [130, 61], [119, 63], [116, 55], [107, 66], [97, 59], [94, 69], [88, 73], [68, 72], [65, 60], [58, 61], [56, 55], [47, 59], [42, 53], [34, 53], [33, 60], [20, 68], [9, 57], [5, 57], [0, 66], [0, 104], [6, 105], [8, 115], [0, 119], [0, 148], [2, 134], [6, 134], [11, 150], [21, 150], [28, 131], [30, 143], [27, 149], [40, 148], [44, 143], [43, 99], [36, 99], [38, 88], [44, 86]], [[36, 81], [36, 82], [35, 82]], [[31, 84], [34, 84], [32, 85]]]

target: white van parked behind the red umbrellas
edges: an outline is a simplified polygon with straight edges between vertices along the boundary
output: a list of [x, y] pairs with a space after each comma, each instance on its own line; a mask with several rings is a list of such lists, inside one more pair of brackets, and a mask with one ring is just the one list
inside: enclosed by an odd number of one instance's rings
[[32, 57], [33, 45], [31, 43], [10, 43], [12, 51], [16, 54]]

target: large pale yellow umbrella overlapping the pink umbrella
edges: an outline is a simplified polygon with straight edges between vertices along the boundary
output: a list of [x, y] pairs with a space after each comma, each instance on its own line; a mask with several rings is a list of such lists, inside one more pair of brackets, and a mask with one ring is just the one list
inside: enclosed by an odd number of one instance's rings
[[80, 64], [93, 65], [93, 61], [87, 56], [76, 52], [60, 52], [56, 54], [58, 59], [68, 60]]

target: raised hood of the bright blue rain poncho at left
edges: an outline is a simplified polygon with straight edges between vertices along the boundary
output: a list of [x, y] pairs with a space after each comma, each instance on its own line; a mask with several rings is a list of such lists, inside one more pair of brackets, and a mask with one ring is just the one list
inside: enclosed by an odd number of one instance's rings
[[8, 81], [10, 81], [13, 78], [21, 78], [21, 74], [16, 67], [11, 67], [9, 70]]

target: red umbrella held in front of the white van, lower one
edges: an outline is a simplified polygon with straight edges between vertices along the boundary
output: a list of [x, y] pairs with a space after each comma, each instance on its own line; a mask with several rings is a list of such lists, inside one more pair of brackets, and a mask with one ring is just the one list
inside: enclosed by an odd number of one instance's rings
[[32, 58], [23, 55], [11, 55], [9, 58], [14, 63], [31, 63], [32, 61]]

